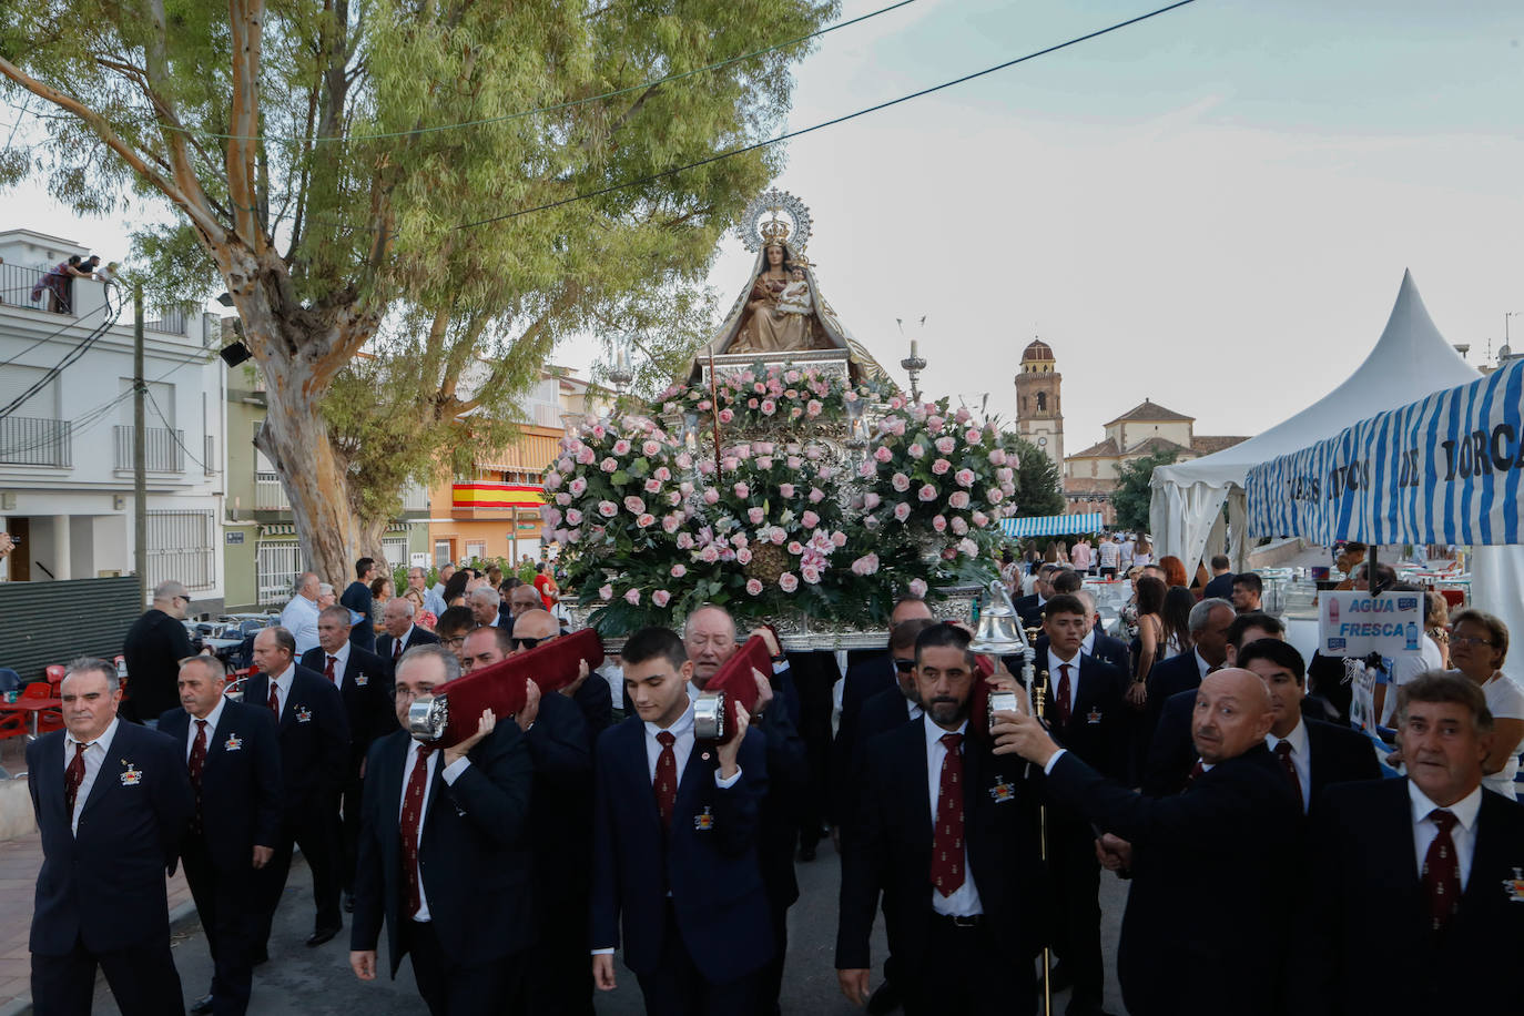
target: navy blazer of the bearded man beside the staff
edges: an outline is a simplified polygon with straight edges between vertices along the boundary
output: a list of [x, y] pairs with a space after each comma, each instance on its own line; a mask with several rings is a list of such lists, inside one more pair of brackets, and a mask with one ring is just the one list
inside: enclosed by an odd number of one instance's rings
[[[870, 966], [869, 934], [881, 891], [895, 963], [919, 970], [927, 960], [934, 911], [925, 722], [901, 724], [864, 748], [856, 832], [843, 841], [837, 969]], [[963, 740], [969, 871], [995, 951], [1015, 963], [1030, 963], [1039, 947], [1047, 902], [1027, 768], [1015, 756], [992, 754], [988, 739]]]

